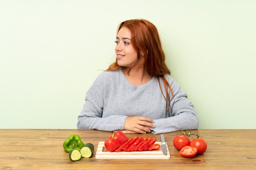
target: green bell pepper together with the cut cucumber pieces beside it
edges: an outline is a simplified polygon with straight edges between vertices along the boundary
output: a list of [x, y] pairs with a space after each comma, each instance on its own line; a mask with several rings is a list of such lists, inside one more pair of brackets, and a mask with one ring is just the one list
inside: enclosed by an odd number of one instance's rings
[[78, 161], [83, 158], [90, 158], [94, 152], [94, 145], [91, 143], [83, 144], [79, 135], [70, 135], [63, 143], [63, 148], [69, 152], [72, 161]]

